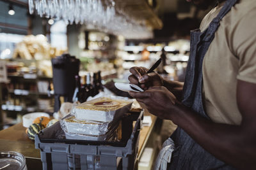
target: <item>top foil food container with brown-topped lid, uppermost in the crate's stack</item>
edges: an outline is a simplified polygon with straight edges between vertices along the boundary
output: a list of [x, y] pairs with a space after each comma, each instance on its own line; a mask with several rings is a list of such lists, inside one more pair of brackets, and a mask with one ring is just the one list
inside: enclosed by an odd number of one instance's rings
[[120, 118], [130, 110], [132, 100], [117, 100], [109, 97], [100, 97], [92, 101], [74, 106], [73, 113], [78, 120], [93, 120], [111, 122]]

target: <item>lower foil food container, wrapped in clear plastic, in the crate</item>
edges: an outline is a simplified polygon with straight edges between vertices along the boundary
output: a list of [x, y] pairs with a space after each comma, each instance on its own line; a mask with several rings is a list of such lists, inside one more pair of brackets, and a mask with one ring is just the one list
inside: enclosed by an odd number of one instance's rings
[[116, 129], [118, 122], [95, 122], [92, 120], [77, 120], [74, 115], [68, 115], [61, 120], [61, 128], [73, 134], [100, 136]]

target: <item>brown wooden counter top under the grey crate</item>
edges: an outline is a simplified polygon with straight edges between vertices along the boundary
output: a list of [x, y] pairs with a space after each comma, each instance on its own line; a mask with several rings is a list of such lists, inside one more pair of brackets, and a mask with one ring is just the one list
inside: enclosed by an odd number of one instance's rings
[[[140, 131], [140, 141], [138, 146], [139, 158], [156, 122], [156, 117], [153, 115], [151, 116], [152, 124], [149, 127], [143, 127]], [[0, 151], [15, 151], [22, 153], [26, 157], [28, 170], [40, 170], [42, 169], [40, 150], [35, 149], [34, 141], [28, 138], [25, 131], [26, 127], [23, 127], [21, 123], [0, 131]]]

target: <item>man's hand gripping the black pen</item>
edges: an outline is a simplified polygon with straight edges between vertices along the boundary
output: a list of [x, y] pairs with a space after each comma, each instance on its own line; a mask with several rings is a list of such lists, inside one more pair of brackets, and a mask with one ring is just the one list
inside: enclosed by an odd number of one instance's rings
[[162, 86], [163, 78], [157, 74], [157, 73], [148, 73], [148, 69], [145, 67], [131, 67], [130, 72], [132, 73], [131, 76], [129, 76], [129, 81], [131, 84], [138, 85], [140, 84], [140, 87], [143, 90], [147, 90], [149, 87], [153, 86]]

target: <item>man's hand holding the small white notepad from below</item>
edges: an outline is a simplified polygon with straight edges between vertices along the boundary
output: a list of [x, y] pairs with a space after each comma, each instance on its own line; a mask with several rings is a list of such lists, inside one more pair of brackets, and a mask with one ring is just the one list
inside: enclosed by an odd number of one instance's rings
[[150, 87], [145, 92], [130, 92], [138, 102], [144, 103], [148, 111], [159, 118], [171, 119], [172, 111], [178, 102], [165, 87]]

